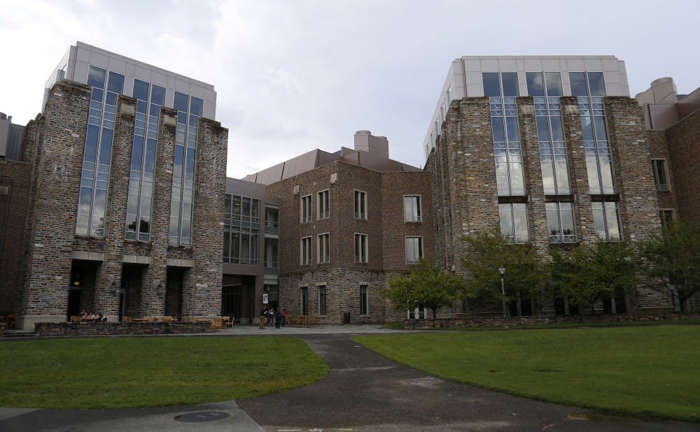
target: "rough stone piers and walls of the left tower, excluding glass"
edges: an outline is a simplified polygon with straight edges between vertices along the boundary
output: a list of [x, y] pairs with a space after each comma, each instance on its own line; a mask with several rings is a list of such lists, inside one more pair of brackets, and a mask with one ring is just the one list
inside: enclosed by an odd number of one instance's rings
[[[65, 321], [73, 282], [80, 286], [80, 308], [100, 310], [110, 321], [118, 321], [121, 302], [131, 316], [162, 316], [166, 308], [184, 318], [220, 312], [228, 130], [200, 118], [193, 244], [169, 245], [177, 113], [160, 109], [150, 241], [125, 240], [136, 103], [118, 96], [104, 237], [76, 236], [75, 229], [90, 87], [57, 82], [43, 114], [27, 125], [31, 185], [25, 186], [26, 277], [18, 289], [18, 326]], [[22, 175], [13, 178], [27, 182]]]

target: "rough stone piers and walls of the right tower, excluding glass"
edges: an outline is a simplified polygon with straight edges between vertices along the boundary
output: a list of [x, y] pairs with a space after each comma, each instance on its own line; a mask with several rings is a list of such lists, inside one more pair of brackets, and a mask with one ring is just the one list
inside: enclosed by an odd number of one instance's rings
[[[573, 201], [577, 244], [597, 241], [591, 202], [600, 199], [619, 202], [622, 235], [631, 242], [645, 240], [659, 232], [659, 203], [650, 159], [652, 154], [661, 152], [652, 147], [654, 139], [662, 140], [645, 129], [642, 111], [635, 100], [609, 96], [604, 101], [616, 194], [591, 196], [577, 98], [563, 96], [560, 103], [572, 194], [545, 196], [533, 99], [528, 96], [517, 98], [528, 232], [531, 242], [545, 259], [550, 247], [545, 212], [547, 201]], [[445, 268], [454, 266], [461, 272], [460, 259], [468, 258], [470, 253], [463, 238], [492, 231], [498, 226], [498, 203], [504, 198], [499, 198], [496, 190], [489, 99], [467, 97], [453, 101], [445, 118], [442, 134], [437, 136], [426, 169], [432, 175], [437, 258]], [[505, 198], [503, 202], [508, 200]], [[570, 246], [551, 247], [566, 250]], [[671, 308], [669, 296], [647, 289], [640, 291], [638, 298], [628, 300], [631, 309], [642, 312]], [[602, 308], [602, 304], [598, 306]], [[456, 307], [451, 312], [459, 309]], [[473, 302], [468, 305], [468, 312], [498, 314], [500, 302]], [[553, 314], [553, 299], [536, 299], [533, 313]]]

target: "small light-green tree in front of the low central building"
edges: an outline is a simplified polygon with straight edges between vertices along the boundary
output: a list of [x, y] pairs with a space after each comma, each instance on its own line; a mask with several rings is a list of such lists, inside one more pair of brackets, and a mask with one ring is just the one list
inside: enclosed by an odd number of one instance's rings
[[389, 281], [386, 296], [395, 310], [428, 308], [433, 311], [433, 326], [437, 310], [450, 305], [461, 290], [463, 279], [438, 267], [431, 257], [412, 266], [408, 276], [397, 276]]

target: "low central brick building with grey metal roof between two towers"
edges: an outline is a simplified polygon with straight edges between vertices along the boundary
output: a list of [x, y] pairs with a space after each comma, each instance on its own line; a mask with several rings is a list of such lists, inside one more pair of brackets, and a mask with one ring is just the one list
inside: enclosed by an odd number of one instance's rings
[[245, 180], [267, 185], [279, 203], [279, 304], [288, 315], [328, 324], [405, 317], [382, 289], [434, 254], [429, 173], [389, 159], [386, 138], [358, 131], [354, 149], [313, 150]]

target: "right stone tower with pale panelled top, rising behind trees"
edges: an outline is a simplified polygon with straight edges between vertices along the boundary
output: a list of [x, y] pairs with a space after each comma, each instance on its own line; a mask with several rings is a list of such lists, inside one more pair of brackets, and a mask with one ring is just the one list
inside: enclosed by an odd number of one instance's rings
[[[612, 56], [461, 57], [452, 62], [423, 150], [432, 175], [435, 245], [461, 271], [465, 236], [501, 232], [540, 251], [645, 240], [661, 226], [650, 161], [663, 141], [629, 97]], [[696, 183], [696, 182], [695, 182]], [[444, 223], [442, 223], [444, 221]], [[494, 269], [494, 271], [496, 271]], [[506, 276], [507, 278], [507, 276]], [[671, 296], [641, 289], [605, 312], [671, 310]], [[572, 305], [573, 306], [573, 305]], [[466, 312], [498, 313], [500, 304]], [[566, 298], [523, 299], [514, 314], [568, 314]]]

